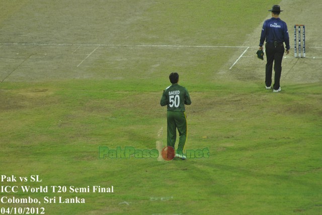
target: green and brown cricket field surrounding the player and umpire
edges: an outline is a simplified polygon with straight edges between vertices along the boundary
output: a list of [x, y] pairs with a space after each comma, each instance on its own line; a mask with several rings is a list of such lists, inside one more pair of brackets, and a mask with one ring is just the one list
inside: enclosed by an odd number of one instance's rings
[[[306, 27], [306, 58], [293, 57], [293, 49], [285, 56], [280, 93], [265, 89], [266, 62], [255, 55], [274, 4], [284, 10], [291, 47], [294, 24]], [[1, 177], [0, 200], [40, 201], [0, 202], [1, 214], [13, 207], [43, 207], [45, 214], [322, 214], [317, 0], [17, 0], [0, 7], [0, 175], [9, 177]], [[158, 130], [167, 127], [159, 100], [174, 71], [192, 99], [185, 148], [208, 147], [209, 158], [99, 159], [99, 146], [155, 149]], [[25, 185], [48, 192], [24, 193]], [[85, 203], [59, 203], [59, 196]]]

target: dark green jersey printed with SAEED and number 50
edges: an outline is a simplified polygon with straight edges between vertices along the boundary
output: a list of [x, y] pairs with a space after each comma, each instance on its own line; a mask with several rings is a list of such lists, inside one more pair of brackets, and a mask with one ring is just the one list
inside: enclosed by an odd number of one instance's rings
[[168, 111], [184, 112], [185, 104], [191, 104], [191, 99], [185, 87], [174, 83], [163, 91], [160, 104], [168, 105]]

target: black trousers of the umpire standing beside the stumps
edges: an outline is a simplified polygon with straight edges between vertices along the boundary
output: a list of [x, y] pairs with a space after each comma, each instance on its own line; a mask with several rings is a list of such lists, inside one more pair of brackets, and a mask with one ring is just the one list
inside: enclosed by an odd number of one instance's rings
[[273, 70], [273, 62], [274, 62], [274, 89], [278, 89], [280, 87], [280, 78], [282, 73], [282, 59], [284, 55], [284, 45], [283, 43], [266, 43], [265, 44], [265, 52], [266, 52], [266, 78], [265, 84], [266, 86], [271, 86], [272, 84], [272, 70]]

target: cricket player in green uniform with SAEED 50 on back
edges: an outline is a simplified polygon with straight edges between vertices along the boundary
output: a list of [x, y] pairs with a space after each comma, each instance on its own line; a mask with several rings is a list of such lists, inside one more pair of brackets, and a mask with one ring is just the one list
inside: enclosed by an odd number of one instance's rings
[[180, 86], [179, 74], [173, 72], [169, 75], [172, 85], [168, 86], [161, 97], [161, 106], [167, 105], [167, 146], [175, 148], [177, 129], [179, 132], [179, 144], [175, 158], [186, 159], [183, 149], [187, 141], [187, 117], [185, 104], [191, 104], [188, 90]]

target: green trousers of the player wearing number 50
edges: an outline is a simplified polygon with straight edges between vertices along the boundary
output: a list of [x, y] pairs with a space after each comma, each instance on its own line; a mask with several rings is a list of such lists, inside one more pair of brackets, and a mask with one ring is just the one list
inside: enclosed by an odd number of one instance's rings
[[177, 129], [179, 132], [179, 144], [177, 154], [183, 154], [183, 149], [187, 141], [187, 118], [185, 112], [167, 112], [168, 135], [167, 145], [175, 148], [177, 139]]

